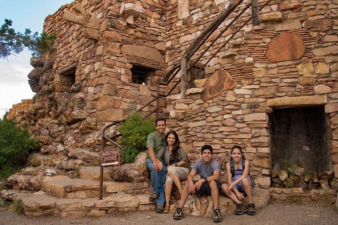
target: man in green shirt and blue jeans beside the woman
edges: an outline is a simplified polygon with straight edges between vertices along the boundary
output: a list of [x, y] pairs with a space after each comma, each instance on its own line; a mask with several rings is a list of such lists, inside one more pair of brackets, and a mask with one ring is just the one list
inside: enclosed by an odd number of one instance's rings
[[151, 179], [153, 185], [153, 194], [150, 196], [151, 201], [156, 201], [157, 207], [156, 212], [163, 212], [165, 204], [165, 195], [164, 195], [164, 184], [165, 176], [167, 175], [166, 165], [163, 164], [161, 167], [156, 160], [156, 154], [162, 147], [167, 145], [164, 140], [166, 134], [166, 121], [163, 118], [159, 118], [155, 122], [156, 132], [153, 132], [148, 135], [147, 138], [147, 158], [146, 164], [151, 172]]

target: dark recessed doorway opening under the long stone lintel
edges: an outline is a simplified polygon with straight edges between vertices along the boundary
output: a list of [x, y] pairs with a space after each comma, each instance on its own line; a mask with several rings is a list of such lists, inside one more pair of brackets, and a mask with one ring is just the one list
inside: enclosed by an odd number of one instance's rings
[[273, 168], [296, 165], [308, 173], [332, 170], [324, 106], [274, 109], [269, 121]]

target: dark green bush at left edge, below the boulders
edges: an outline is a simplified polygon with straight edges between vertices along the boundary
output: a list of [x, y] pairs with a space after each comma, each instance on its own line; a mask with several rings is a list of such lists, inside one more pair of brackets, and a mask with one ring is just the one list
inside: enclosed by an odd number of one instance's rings
[[28, 152], [36, 149], [37, 141], [23, 126], [16, 127], [12, 120], [0, 119], [0, 181], [6, 180], [22, 168]]

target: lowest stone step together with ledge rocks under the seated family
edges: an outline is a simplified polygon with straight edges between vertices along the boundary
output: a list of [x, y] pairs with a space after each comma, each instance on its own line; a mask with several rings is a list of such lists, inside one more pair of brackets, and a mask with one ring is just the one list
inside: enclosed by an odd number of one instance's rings
[[[26, 215], [54, 214], [63, 217], [102, 216], [107, 212], [131, 210], [155, 210], [156, 204], [149, 200], [149, 194], [129, 195], [121, 192], [106, 194], [102, 200], [98, 198], [57, 198], [39, 191], [35, 193], [18, 193], [16, 198], [22, 200]], [[256, 188], [254, 202], [256, 208], [268, 204], [270, 193], [267, 189]], [[173, 213], [179, 203], [172, 202], [170, 211]], [[233, 213], [236, 204], [224, 194], [219, 196], [219, 207], [223, 215]], [[190, 195], [184, 212], [190, 215], [212, 216], [213, 201], [211, 196]]]

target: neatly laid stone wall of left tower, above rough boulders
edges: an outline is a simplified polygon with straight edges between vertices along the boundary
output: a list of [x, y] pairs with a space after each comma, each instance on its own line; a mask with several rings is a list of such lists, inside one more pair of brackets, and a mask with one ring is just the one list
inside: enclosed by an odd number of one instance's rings
[[[134, 24], [127, 24], [126, 18], [119, 15], [122, 3], [129, 2], [143, 8]], [[63, 18], [65, 10], [74, 13], [71, 5], [46, 18], [44, 31], [58, 34], [57, 48], [53, 53], [55, 95], [67, 91], [63, 82], [65, 76], [60, 72], [73, 67], [76, 91], [84, 94], [83, 109], [90, 117], [102, 122], [122, 120], [154, 97], [156, 84], [165, 71], [162, 59], [165, 53], [164, 3], [115, 0], [79, 3], [98, 19], [96, 31], [100, 39], [88, 39], [87, 28]], [[132, 65], [154, 70], [146, 86], [131, 84]], [[144, 115], [153, 109], [147, 107]]]

